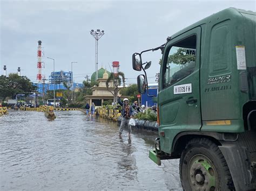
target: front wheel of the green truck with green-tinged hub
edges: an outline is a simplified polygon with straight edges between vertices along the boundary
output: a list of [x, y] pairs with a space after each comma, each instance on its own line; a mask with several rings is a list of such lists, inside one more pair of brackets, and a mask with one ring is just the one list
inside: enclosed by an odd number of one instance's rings
[[209, 139], [190, 140], [181, 154], [179, 169], [185, 191], [234, 190], [226, 160]]

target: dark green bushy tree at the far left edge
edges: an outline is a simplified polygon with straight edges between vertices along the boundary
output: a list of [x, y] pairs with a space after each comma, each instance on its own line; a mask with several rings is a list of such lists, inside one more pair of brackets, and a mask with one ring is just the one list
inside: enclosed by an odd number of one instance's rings
[[9, 77], [0, 76], [0, 97], [5, 100], [6, 97], [16, 98], [17, 94], [30, 95], [36, 91], [36, 86], [26, 76], [18, 74], [9, 74]]

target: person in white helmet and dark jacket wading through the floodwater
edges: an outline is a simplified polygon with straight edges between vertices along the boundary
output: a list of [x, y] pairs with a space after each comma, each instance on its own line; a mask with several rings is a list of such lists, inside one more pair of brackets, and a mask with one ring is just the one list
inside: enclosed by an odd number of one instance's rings
[[118, 95], [118, 103], [122, 106], [122, 121], [119, 129], [119, 135], [122, 135], [122, 132], [124, 130], [125, 124], [128, 126], [128, 132], [129, 137], [131, 136], [132, 128], [131, 125], [129, 125], [130, 118], [133, 116], [133, 109], [129, 105], [129, 100], [127, 98], [124, 98], [124, 102], [121, 102], [120, 100], [121, 95]]

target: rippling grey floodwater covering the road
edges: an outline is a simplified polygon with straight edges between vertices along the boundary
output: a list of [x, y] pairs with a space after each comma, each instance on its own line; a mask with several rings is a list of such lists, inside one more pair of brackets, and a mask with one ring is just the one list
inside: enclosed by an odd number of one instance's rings
[[9, 111], [0, 117], [0, 190], [182, 190], [179, 160], [148, 158], [157, 132], [80, 111]]

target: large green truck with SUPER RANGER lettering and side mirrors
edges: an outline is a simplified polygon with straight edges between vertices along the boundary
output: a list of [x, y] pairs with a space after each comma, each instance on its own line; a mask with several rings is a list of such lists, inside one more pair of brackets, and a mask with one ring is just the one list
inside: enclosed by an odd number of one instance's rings
[[134, 53], [140, 93], [151, 65], [142, 54], [158, 49], [159, 138], [149, 157], [158, 165], [180, 158], [184, 190], [254, 190], [256, 13], [228, 8]]

